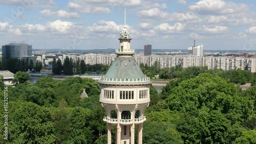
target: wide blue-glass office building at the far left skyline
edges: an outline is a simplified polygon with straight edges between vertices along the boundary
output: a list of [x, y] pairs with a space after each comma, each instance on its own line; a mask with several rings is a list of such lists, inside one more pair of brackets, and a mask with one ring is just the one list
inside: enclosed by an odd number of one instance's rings
[[32, 45], [25, 42], [12, 42], [2, 45], [2, 60], [9, 58], [22, 59], [22, 57], [32, 56]]

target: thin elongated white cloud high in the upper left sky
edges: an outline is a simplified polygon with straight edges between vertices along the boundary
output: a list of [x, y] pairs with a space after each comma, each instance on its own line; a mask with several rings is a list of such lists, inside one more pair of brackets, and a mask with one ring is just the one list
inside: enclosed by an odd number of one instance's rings
[[57, 12], [52, 12], [49, 9], [45, 9], [40, 11], [40, 14], [44, 17], [53, 17], [53, 16], [58, 16], [60, 18], [79, 18], [78, 13], [76, 12], [67, 12], [65, 10], [59, 10]]

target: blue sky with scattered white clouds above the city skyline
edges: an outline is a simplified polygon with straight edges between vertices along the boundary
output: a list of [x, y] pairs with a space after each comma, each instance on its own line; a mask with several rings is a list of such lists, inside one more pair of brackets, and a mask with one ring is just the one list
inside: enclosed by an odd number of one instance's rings
[[256, 52], [256, 1], [242, 0], [0, 0], [0, 44], [26, 41], [33, 49], [131, 49]]

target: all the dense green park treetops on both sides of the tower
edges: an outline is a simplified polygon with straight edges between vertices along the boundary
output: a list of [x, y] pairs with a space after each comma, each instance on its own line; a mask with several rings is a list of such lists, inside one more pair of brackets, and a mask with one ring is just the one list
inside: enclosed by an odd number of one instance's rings
[[[247, 71], [237, 72], [255, 79]], [[236, 87], [225, 78], [232, 71], [225, 75], [222, 70], [196, 67], [184, 73], [184, 79], [170, 80], [162, 93], [151, 86], [143, 143], [256, 143], [256, 85]], [[89, 98], [80, 98], [83, 89]], [[8, 94], [9, 137], [0, 143], [106, 143], [105, 111], [95, 81], [43, 77], [34, 84], [10, 86]]]

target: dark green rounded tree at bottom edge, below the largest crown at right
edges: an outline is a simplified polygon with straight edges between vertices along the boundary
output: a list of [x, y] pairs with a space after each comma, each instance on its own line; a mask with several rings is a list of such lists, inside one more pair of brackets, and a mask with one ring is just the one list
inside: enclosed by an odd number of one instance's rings
[[184, 143], [228, 143], [230, 122], [220, 111], [196, 110], [177, 119]]

